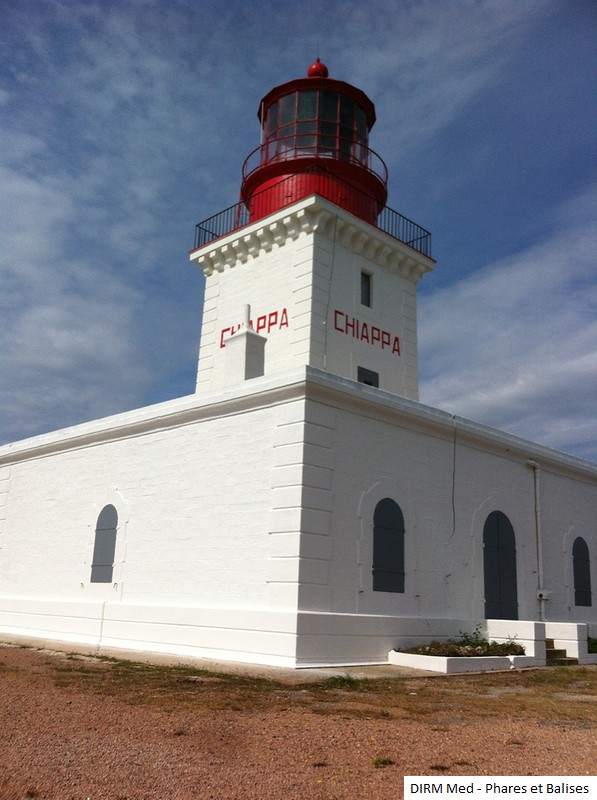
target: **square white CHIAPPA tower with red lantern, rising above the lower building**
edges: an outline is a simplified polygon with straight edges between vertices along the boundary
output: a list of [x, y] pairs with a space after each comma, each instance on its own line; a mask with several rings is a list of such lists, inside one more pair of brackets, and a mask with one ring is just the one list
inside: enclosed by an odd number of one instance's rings
[[197, 225], [197, 391], [307, 365], [418, 399], [428, 231], [388, 208], [375, 107], [317, 59], [259, 102], [240, 201]]

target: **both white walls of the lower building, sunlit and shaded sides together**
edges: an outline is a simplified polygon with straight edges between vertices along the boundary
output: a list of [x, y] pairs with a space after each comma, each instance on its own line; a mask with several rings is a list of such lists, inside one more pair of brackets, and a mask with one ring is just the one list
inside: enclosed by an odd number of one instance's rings
[[[543, 586], [538, 588], [538, 465]], [[384, 661], [483, 618], [482, 531], [516, 534], [521, 620], [583, 622], [597, 467], [303, 368], [0, 448], [0, 635], [305, 666]], [[404, 593], [372, 591], [372, 518], [406, 527]], [[90, 584], [112, 503], [111, 584]], [[579, 629], [580, 630], [580, 629]]]

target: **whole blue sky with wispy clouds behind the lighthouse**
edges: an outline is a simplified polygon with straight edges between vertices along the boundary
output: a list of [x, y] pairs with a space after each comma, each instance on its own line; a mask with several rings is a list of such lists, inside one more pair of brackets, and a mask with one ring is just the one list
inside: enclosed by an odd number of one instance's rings
[[433, 233], [421, 401], [597, 460], [592, 0], [5, 0], [0, 37], [0, 442], [194, 391], [194, 225], [319, 48]]

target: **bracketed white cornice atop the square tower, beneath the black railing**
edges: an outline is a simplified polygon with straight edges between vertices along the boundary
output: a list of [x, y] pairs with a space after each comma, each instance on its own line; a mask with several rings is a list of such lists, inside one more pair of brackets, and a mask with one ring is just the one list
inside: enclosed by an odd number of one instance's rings
[[314, 233], [337, 241], [413, 284], [435, 264], [404, 242], [316, 195], [222, 237], [217, 243], [193, 250], [190, 259], [199, 264], [205, 275], [211, 275], [245, 264], [275, 247], [284, 247], [301, 235]]

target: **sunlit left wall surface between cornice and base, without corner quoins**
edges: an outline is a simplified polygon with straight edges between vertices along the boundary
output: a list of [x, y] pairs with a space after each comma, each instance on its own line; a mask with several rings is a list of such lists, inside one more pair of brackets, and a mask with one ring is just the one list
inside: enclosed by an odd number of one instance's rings
[[[90, 563], [97, 516], [112, 503], [119, 513], [114, 582], [123, 599], [266, 603], [263, 520], [275, 419], [271, 409], [254, 412], [251, 425], [243, 416], [15, 464], [5, 590], [101, 593], [104, 586], [89, 583]], [[243, 451], [255, 468], [241, 477]]]

